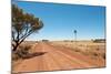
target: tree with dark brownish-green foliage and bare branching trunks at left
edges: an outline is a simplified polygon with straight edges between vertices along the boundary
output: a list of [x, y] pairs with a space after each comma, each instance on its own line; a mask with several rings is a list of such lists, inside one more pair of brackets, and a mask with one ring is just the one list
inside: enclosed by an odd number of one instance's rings
[[24, 13], [22, 9], [12, 4], [12, 51], [28, 38], [38, 32], [43, 27], [43, 22], [33, 14]]

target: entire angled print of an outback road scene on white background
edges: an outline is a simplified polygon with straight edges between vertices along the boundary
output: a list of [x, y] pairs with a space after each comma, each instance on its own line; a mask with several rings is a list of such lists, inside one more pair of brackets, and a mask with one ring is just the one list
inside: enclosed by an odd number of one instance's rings
[[105, 67], [104, 22], [105, 7], [13, 1], [12, 73]]

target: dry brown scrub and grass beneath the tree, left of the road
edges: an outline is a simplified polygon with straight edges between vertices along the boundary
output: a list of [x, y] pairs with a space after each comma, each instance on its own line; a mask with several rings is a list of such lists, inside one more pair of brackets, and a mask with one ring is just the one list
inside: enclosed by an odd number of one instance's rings
[[29, 55], [29, 51], [31, 50], [31, 46], [34, 44], [36, 42], [33, 41], [24, 41], [22, 42], [16, 52], [12, 52], [12, 61], [18, 61], [23, 59], [23, 56]]

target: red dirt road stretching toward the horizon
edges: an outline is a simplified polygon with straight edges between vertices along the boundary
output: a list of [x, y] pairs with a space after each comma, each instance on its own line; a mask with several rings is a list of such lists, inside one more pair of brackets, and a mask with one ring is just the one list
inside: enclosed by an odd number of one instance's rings
[[71, 49], [53, 46], [46, 42], [34, 44], [31, 52], [46, 53], [40, 56], [23, 60], [14, 66], [13, 72], [58, 71], [104, 66], [103, 61], [93, 60]]

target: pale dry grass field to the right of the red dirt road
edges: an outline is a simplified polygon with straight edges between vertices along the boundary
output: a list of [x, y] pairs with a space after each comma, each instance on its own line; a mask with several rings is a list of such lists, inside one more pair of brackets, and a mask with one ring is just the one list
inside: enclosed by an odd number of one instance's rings
[[67, 46], [92, 59], [105, 60], [105, 43], [92, 41], [53, 41], [52, 45]]

